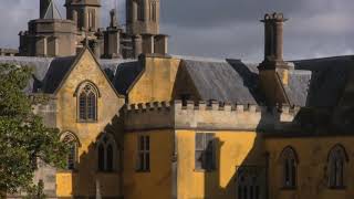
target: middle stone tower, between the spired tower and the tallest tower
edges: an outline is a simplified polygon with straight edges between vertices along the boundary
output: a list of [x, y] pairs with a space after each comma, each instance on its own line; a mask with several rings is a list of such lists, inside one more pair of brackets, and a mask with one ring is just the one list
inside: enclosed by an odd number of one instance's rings
[[101, 20], [101, 0], [65, 0], [66, 19], [76, 23], [77, 30], [96, 32]]

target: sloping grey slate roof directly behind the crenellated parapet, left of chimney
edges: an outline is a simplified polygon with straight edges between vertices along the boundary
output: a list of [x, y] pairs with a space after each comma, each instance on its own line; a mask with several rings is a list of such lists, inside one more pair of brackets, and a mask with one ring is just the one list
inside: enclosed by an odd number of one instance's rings
[[[201, 100], [257, 104], [258, 96], [253, 92], [257, 75], [247, 73], [248, 66], [240, 61], [232, 62], [231, 65], [226, 61], [184, 60], [183, 66], [189, 73]], [[235, 67], [243, 67], [244, 73], [239, 73]]]

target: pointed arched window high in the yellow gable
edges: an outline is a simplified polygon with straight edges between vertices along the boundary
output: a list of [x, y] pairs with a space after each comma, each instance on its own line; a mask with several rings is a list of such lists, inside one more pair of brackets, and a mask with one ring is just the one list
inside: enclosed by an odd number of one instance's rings
[[97, 121], [97, 88], [92, 83], [80, 86], [77, 97], [80, 122]]

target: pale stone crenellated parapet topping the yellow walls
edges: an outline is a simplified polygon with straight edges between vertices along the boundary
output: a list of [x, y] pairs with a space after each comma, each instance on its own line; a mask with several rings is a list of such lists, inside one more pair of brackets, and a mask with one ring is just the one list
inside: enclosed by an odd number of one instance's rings
[[173, 128], [200, 130], [257, 130], [293, 125], [299, 107], [266, 107], [220, 102], [154, 102], [124, 109], [127, 130]]

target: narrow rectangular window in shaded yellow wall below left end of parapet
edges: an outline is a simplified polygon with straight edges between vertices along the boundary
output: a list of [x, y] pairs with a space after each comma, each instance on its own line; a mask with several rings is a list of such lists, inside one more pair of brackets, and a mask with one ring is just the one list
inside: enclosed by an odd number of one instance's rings
[[137, 153], [137, 170], [149, 171], [150, 170], [150, 137], [138, 137], [138, 153]]

